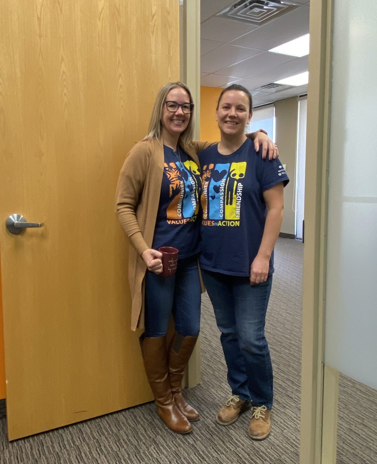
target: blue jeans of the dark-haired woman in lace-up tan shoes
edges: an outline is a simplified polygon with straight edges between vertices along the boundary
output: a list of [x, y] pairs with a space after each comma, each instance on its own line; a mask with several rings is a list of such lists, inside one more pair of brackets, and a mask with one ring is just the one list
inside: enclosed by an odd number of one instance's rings
[[265, 322], [272, 276], [253, 286], [249, 277], [205, 270], [202, 276], [221, 331], [232, 394], [271, 409], [273, 372]]

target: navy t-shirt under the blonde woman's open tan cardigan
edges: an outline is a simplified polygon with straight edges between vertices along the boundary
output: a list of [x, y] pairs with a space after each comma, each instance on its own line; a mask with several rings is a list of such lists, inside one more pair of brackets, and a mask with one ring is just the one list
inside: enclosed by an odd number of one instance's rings
[[163, 152], [163, 181], [152, 248], [174, 246], [179, 250], [178, 259], [188, 258], [199, 251], [200, 170], [181, 148], [174, 152], [164, 145]]

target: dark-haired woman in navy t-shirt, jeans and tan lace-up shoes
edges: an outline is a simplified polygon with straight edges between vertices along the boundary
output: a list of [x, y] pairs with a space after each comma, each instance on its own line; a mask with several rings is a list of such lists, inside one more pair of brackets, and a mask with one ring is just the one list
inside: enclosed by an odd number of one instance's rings
[[253, 407], [249, 435], [271, 430], [273, 371], [265, 337], [273, 280], [273, 248], [283, 219], [281, 161], [264, 160], [245, 135], [252, 96], [241, 85], [221, 92], [216, 119], [221, 141], [199, 153], [202, 165], [200, 267], [221, 331], [232, 395], [218, 415], [234, 423]]

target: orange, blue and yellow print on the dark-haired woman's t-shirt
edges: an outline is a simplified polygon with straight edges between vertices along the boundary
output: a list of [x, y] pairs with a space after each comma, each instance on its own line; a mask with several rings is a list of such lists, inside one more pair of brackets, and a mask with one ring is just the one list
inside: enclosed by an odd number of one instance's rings
[[203, 226], [239, 226], [246, 161], [203, 166]]

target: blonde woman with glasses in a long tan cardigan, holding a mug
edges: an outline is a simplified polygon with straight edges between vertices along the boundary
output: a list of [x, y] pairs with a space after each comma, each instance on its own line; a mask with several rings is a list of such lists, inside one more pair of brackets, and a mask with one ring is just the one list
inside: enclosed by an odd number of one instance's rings
[[[199, 419], [181, 393], [182, 378], [200, 328], [201, 281], [198, 269], [200, 164], [197, 153], [209, 143], [193, 142], [194, 103], [189, 88], [170, 82], [158, 91], [149, 133], [131, 149], [117, 184], [117, 217], [132, 248], [129, 280], [131, 329], [140, 338], [145, 372], [159, 417], [176, 433], [191, 432]], [[256, 145], [276, 148], [262, 132]], [[179, 250], [176, 273], [162, 277], [162, 253]], [[170, 315], [175, 333], [167, 347]]]

